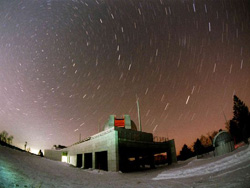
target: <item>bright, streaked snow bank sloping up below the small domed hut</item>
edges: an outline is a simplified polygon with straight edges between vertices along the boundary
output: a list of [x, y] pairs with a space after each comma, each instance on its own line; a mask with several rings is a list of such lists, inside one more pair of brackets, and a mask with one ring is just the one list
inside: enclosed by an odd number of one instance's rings
[[[161, 174], [159, 174], [157, 177], [153, 178], [153, 180], [190, 178], [194, 176], [212, 174], [218, 171], [226, 170], [228, 168], [236, 167], [237, 165], [247, 162], [247, 161], [250, 162], [250, 147], [248, 147], [246, 150], [240, 151], [234, 155], [230, 155], [219, 160], [217, 157], [215, 157], [213, 162], [210, 162], [204, 165], [200, 165], [200, 166], [196, 165], [196, 167], [193, 167], [193, 168], [190, 168], [190, 166], [188, 165], [189, 166], [188, 168], [184, 166], [178, 169], [164, 171]], [[250, 163], [248, 164], [249, 165], [240, 167], [240, 169], [248, 168], [250, 166]], [[239, 169], [236, 169], [236, 170], [239, 170]], [[226, 173], [230, 173], [232, 171], [228, 171]], [[221, 175], [224, 175], [224, 174], [221, 174]]]

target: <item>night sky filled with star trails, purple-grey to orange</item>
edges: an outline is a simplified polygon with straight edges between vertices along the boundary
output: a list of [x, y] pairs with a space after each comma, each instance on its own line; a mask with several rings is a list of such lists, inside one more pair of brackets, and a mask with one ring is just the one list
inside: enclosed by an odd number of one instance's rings
[[[1, 0], [0, 131], [71, 145], [109, 115], [177, 151], [250, 105], [249, 0]], [[137, 123], [138, 125], [138, 123]]]

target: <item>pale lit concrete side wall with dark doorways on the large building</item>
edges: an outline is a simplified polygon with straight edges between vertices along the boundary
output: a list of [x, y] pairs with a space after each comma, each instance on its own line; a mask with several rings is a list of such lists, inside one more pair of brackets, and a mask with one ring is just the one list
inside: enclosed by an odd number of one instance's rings
[[69, 163], [71, 165], [77, 165], [77, 154], [82, 154], [82, 167], [84, 167], [84, 154], [92, 153], [92, 167], [95, 166], [96, 152], [107, 151], [108, 159], [108, 170], [118, 171], [119, 170], [119, 155], [118, 155], [118, 133], [111, 128], [103, 131], [91, 137], [90, 140], [82, 142], [77, 145], [73, 145], [67, 148]]

